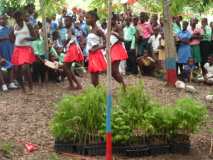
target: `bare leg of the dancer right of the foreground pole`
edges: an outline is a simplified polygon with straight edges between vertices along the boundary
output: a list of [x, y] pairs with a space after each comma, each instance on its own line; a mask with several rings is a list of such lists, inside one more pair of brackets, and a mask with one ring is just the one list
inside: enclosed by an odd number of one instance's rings
[[119, 72], [120, 61], [116, 61], [112, 64], [112, 77], [119, 83], [122, 84], [124, 91], [126, 91], [126, 85], [124, 83], [123, 77]]

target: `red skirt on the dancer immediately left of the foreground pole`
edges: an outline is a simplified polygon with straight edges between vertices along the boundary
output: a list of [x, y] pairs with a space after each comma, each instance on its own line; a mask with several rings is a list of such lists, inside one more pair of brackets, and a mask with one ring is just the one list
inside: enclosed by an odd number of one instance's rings
[[89, 53], [88, 71], [90, 73], [104, 72], [107, 69], [107, 62], [101, 50]]

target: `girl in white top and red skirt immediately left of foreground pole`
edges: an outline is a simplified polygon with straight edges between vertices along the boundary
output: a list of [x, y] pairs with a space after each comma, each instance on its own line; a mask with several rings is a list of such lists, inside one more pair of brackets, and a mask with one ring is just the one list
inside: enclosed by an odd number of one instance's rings
[[[87, 24], [92, 27], [91, 32], [87, 37], [87, 50], [89, 51], [89, 64], [88, 70], [91, 73], [91, 80], [94, 86], [99, 84], [98, 75], [106, 71], [107, 63], [103, 56], [102, 49], [105, 48], [105, 35], [100, 28], [96, 25], [98, 20], [95, 11], [87, 13]], [[103, 43], [101, 40], [103, 39]]]

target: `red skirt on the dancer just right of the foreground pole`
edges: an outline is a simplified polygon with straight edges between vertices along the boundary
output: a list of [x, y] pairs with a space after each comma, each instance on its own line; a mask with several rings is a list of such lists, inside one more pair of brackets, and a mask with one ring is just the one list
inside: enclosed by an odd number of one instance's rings
[[110, 50], [112, 63], [128, 59], [128, 54], [122, 43], [116, 43]]

